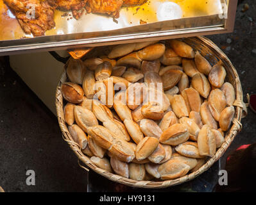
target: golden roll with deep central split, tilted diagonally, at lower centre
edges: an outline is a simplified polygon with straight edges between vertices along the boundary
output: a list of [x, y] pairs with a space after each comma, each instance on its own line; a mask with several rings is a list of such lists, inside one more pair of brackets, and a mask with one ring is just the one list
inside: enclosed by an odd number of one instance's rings
[[157, 149], [159, 140], [155, 137], [146, 136], [138, 143], [135, 151], [136, 159], [141, 161], [150, 156]]

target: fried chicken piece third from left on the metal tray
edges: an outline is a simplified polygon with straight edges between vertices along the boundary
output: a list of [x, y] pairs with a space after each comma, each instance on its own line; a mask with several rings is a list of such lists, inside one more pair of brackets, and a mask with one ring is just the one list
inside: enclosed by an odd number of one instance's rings
[[122, 5], [123, 0], [87, 0], [85, 9], [87, 13], [107, 13], [118, 18]]

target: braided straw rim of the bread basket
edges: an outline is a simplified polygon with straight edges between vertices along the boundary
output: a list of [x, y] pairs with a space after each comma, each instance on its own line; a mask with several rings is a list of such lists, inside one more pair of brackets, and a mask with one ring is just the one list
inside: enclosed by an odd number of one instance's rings
[[[185, 38], [185, 39], [190, 39], [190, 40], [197, 40], [201, 42], [201, 44], [207, 45], [209, 49], [214, 53], [218, 54], [219, 59], [222, 61], [222, 63], [230, 67], [232, 69], [232, 72], [234, 72], [235, 75], [235, 99], [238, 102], [243, 102], [243, 90], [241, 88], [241, 81], [239, 79], [239, 76], [237, 74], [237, 71], [235, 70], [234, 65], [232, 65], [231, 61], [228, 59], [226, 54], [219, 49], [219, 47], [214, 44], [209, 38], [206, 37], [190, 37], [190, 38]], [[61, 92], [61, 85], [63, 83], [62, 79], [66, 79], [66, 70], [64, 69], [60, 80], [58, 82], [58, 85], [56, 87], [56, 113], [58, 116], [58, 124], [60, 126], [60, 129], [62, 130], [62, 137], [64, 140], [69, 144], [71, 149], [74, 151], [76, 156], [78, 156], [78, 159], [85, 163], [87, 167], [92, 169], [94, 172], [100, 174], [101, 176], [106, 177], [107, 179], [110, 179], [111, 181], [125, 184], [128, 186], [132, 187], [137, 187], [137, 188], [166, 188], [169, 186], [174, 186], [177, 184], [185, 183], [186, 181], [191, 181], [195, 177], [200, 176], [203, 172], [208, 170], [216, 161], [221, 158], [221, 156], [225, 153], [226, 149], [230, 146], [230, 144], [233, 142], [235, 136], [239, 131], [241, 131], [242, 124], [241, 124], [241, 118], [242, 118], [242, 112], [243, 112], [243, 106], [241, 106], [239, 103], [234, 104], [235, 107], [235, 117], [232, 123], [231, 128], [225, 135], [225, 142], [221, 145], [221, 147], [218, 148], [218, 151], [214, 154], [212, 158], [209, 158], [203, 166], [201, 166], [196, 172], [192, 172], [190, 174], [187, 174], [183, 177], [180, 177], [178, 179], [171, 179], [171, 180], [166, 180], [166, 181], [136, 181], [133, 179], [128, 179], [126, 177], [119, 176], [117, 174], [112, 174], [110, 172], [107, 172], [106, 170], [103, 170], [90, 160], [89, 157], [87, 157], [83, 152], [81, 152], [80, 147], [78, 147], [78, 144], [74, 142], [73, 138], [71, 137], [67, 125], [65, 124], [64, 120], [64, 110], [63, 110], [63, 97], [62, 97], [62, 92]], [[80, 165], [81, 166], [81, 165]], [[82, 166], [81, 166], [82, 167]], [[86, 168], [85, 168], [86, 169]]]

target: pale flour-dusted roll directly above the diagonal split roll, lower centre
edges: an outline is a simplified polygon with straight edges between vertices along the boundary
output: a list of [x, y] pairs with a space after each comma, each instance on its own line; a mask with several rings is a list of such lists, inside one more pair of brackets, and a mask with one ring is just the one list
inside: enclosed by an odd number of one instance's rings
[[140, 121], [140, 128], [145, 136], [153, 136], [155, 138], [160, 138], [160, 136], [162, 135], [162, 130], [153, 120], [142, 119]]

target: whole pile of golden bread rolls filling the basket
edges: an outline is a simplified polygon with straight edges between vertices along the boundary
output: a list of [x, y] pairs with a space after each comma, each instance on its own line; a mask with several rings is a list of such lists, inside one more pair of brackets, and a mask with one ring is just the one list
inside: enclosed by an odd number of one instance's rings
[[71, 58], [66, 69], [69, 132], [92, 163], [119, 176], [157, 181], [198, 170], [234, 118], [223, 65], [181, 40], [116, 45], [105, 56]]

